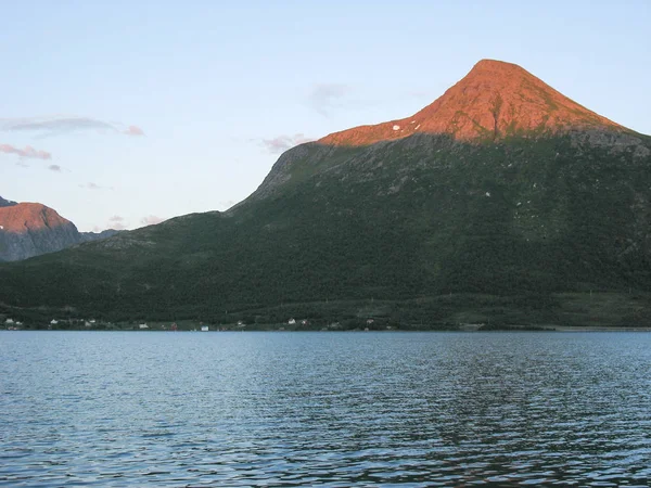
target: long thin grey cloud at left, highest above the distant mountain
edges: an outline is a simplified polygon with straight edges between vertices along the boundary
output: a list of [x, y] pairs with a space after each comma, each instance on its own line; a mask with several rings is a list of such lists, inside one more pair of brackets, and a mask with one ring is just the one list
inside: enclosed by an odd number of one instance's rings
[[90, 117], [29, 117], [0, 118], [0, 130], [9, 132], [38, 132], [41, 137], [61, 136], [74, 132], [95, 131], [123, 133], [127, 136], [144, 136], [140, 127], [107, 123]]

